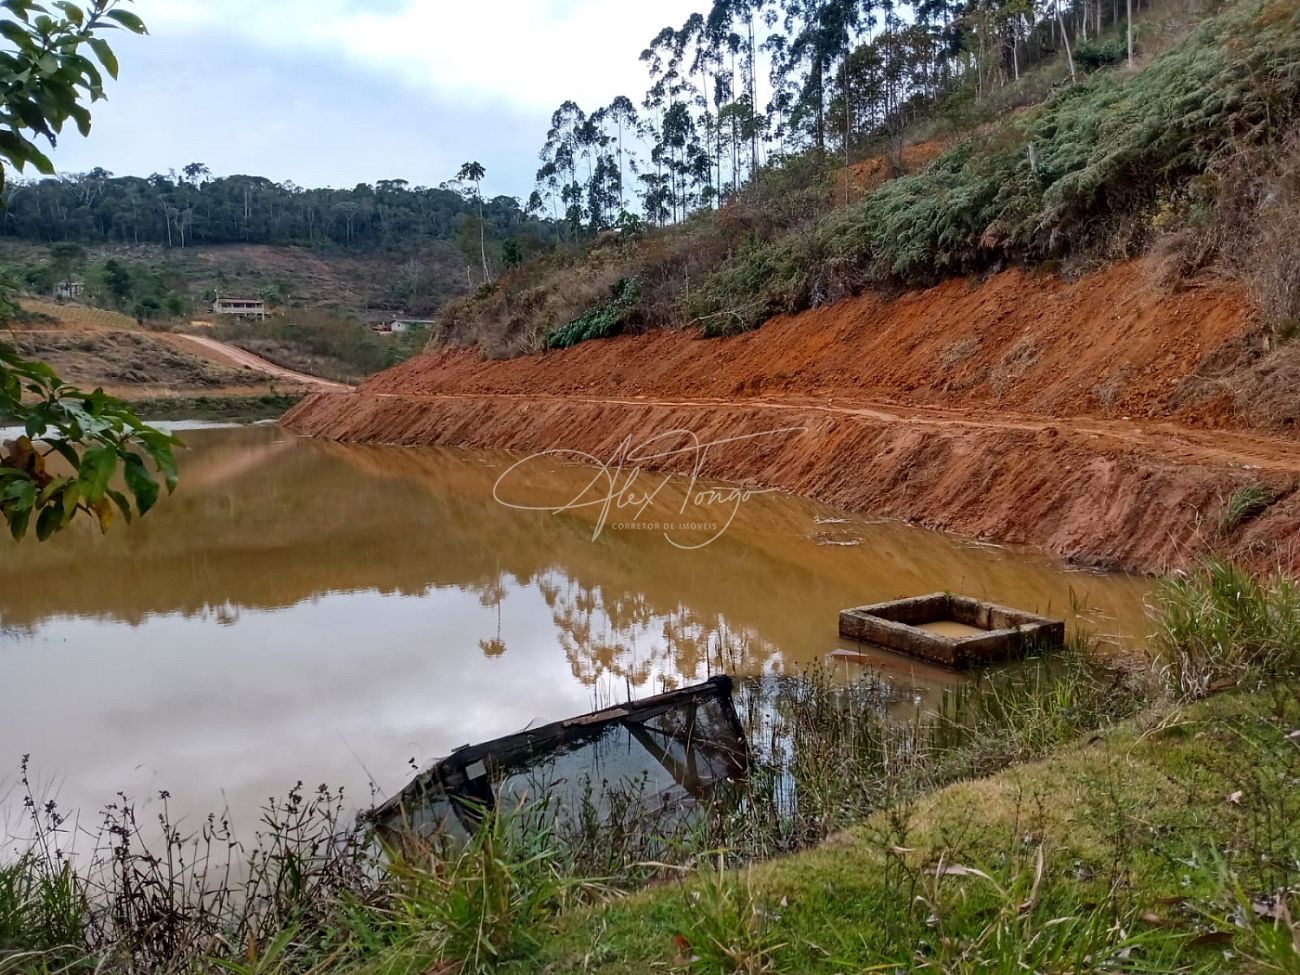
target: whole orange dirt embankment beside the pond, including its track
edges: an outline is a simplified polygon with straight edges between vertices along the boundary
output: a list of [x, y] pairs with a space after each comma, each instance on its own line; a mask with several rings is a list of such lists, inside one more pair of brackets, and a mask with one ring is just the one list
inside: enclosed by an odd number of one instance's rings
[[[601, 459], [676, 429], [703, 442], [785, 430], [711, 447], [703, 473], [1087, 563], [1160, 571], [1223, 547], [1300, 568], [1300, 442], [1282, 436], [1294, 419], [1252, 412], [1286, 403], [1292, 373], [1261, 369], [1261, 343], [1230, 287], [1169, 292], [1141, 264], [1075, 282], [1013, 270], [728, 341], [659, 332], [495, 363], [443, 351], [286, 421]], [[1225, 530], [1225, 504], [1254, 485], [1277, 499]]]

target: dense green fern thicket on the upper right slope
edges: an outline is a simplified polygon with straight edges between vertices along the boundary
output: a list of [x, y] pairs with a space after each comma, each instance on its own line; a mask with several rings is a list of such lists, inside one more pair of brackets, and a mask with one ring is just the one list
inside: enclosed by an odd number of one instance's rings
[[1196, 177], [1213, 199], [1218, 170], [1277, 151], [1297, 113], [1300, 5], [1243, 3], [1145, 70], [1093, 75], [807, 231], [738, 255], [688, 295], [688, 313], [724, 333], [868, 286], [1130, 256], [1152, 242], [1158, 207], [1179, 207]]

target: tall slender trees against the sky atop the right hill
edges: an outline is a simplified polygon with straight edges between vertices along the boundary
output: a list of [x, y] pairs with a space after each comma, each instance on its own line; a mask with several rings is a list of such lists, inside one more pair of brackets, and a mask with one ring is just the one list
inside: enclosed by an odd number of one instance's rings
[[[528, 212], [569, 234], [714, 207], [809, 148], [848, 156], [1063, 53], [1074, 79], [1131, 57], [1098, 44], [1132, 0], [714, 0], [641, 53], [650, 86], [551, 117]], [[1148, 0], [1149, 3], [1149, 0]], [[640, 217], [630, 216], [640, 211]]]

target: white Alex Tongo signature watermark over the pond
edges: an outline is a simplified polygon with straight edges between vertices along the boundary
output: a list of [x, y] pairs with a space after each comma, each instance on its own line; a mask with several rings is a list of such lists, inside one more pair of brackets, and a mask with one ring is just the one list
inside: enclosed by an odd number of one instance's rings
[[[724, 443], [775, 439], [803, 433], [806, 429], [781, 426], [715, 441], [702, 441], [698, 434], [686, 429], [668, 430], [640, 442], [629, 436], [608, 458], [598, 458], [582, 450], [552, 447], [530, 454], [506, 468], [493, 485], [491, 494], [499, 504], [519, 511], [549, 511], [560, 515], [567, 511], [594, 508], [593, 541], [606, 529], [660, 532], [668, 543], [677, 549], [703, 549], [731, 528], [745, 502], [775, 490], [701, 484], [708, 451]], [[689, 464], [685, 476], [647, 472], [649, 468], [680, 467], [682, 460]], [[572, 497], [566, 495], [558, 504], [537, 503], [536, 499], [517, 500], [517, 497], [526, 494], [528, 489], [523, 482], [526, 481], [529, 468], [536, 465], [550, 468], [555, 462], [580, 463], [595, 469], [592, 480], [582, 485], [581, 490]], [[672, 503], [670, 485], [685, 489], [679, 504]], [[692, 533], [692, 540], [682, 540], [682, 533]], [[705, 533], [703, 541], [698, 541], [699, 533]]]

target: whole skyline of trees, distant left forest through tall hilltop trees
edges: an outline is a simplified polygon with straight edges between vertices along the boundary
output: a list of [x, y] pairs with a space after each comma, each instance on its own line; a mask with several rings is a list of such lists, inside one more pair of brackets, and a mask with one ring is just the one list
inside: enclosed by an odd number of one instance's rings
[[[525, 204], [481, 181], [304, 188], [256, 176], [104, 169], [10, 181], [0, 234], [82, 244], [265, 243], [381, 250], [480, 229], [510, 266], [563, 235], [679, 222], [809, 148], [893, 147], [937, 105], [963, 110], [1062, 55], [1070, 75], [1122, 61], [1115, 27], [1152, 0], [712, 0], [641, 53], [649, 87], [555, 109]], [[477, 165], [477, 164], [474, 164]], [[480, 228], [480, 214], [482, 226]], [[481, 255], [480, 255], [481, 256]]]

